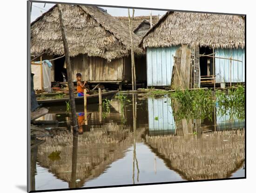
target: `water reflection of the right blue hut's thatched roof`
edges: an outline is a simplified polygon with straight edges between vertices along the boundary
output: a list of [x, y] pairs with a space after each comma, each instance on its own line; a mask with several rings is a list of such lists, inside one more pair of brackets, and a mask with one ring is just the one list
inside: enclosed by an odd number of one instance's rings
[[196, 136], [146, 137], [148, 145], [186, 180], [228, 178], [244, 162], [244, 129]]

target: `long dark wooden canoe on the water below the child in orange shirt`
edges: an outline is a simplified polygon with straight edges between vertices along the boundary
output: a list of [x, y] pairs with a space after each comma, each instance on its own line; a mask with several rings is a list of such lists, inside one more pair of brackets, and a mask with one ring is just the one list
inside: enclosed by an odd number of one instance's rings
[[[111, 99], [116, 93], [119, 91], [109, 91], [106, 93], [101, 93], [102, 100], [104, 99]], [[38, 104], [65, 104], [66, 101], [68, 101], [69, 98], [61, 98], [61, 99], [45, 99], [45, 100], [37, 100]], [[84, 97], [74, 97], [75, 103], [83, 103], [84, 102]], [[99, 102], [99, 94], [91, 94], [87, 96], [87, 104], [93, 104], [93, 103], [98, 103]]]

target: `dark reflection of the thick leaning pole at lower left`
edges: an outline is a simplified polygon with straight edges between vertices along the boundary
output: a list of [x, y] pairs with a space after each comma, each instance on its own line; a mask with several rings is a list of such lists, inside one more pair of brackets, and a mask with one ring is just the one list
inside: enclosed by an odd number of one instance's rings
[[76, 187], [76, 164], [77, 164], [77, 148], [78, 148], [78, 133], [73, 134], [73, 147], [72, 147], [72, 171], [71, 171], [71, 184], [69, 188]]

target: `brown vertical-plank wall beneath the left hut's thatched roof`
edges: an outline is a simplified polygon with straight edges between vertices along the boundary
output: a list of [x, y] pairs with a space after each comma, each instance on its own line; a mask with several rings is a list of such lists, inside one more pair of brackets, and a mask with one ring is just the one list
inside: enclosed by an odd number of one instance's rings
[[80, 54], [71, 59], [73, 77], [76, 73], [82, 74], [82, 80], [88, 81], [121, 81], [123, 80], [123, 58], [107, 60], [99, 57], [88, 57]]

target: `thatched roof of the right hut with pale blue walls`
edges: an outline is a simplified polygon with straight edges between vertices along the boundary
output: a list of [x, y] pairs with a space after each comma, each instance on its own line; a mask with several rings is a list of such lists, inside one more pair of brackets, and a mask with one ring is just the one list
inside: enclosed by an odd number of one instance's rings
[[213, 48], [243, 48], [243, 16], [167, 12], [141, 39], [140, 46], [171, 47], [176, 45]]

